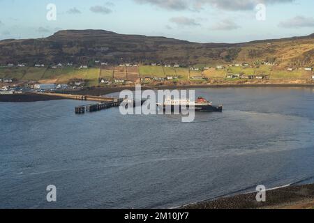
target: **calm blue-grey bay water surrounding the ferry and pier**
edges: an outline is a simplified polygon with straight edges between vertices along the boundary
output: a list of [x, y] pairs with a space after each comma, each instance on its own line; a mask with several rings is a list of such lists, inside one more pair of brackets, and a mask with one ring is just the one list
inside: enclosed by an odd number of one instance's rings
[[[313, 89], [197, 89], [223, 113], [75, 116], [0, 102], [0, 208], [171, 208], [314, 180]], [[47, 185], [57, 203], [47, 203]]]

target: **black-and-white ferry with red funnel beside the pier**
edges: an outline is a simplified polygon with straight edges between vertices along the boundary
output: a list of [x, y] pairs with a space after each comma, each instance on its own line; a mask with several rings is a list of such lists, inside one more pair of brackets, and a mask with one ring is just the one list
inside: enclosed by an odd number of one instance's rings
[[223, 105], [215, 106], [212, 102], [202, 97], [197, 98], [195, 102], [168, 98], [163, 104], [157, 104], [157, 106], [163, 108], [164, 111], [171, 107], [171, 112], [181, 112], [181, 109], [195, 109], [195, 112], [223, 112]]

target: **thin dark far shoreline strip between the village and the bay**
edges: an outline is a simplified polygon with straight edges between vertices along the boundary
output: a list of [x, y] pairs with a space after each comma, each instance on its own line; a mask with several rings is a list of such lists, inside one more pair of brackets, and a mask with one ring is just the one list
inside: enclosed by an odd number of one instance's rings
[[[194, 85], [160, 85], [160, 86], [142, 86], [142, 90], [154, 89], [218, 89], [218, 88], [264, 88], [264, 87], [304, 87], [314, 88], [314, 84], [194, 84]], [[91, 88], [83, 90], [62, 91], [58, 93], [76, 94], [76, 95], [91, 95], [99, 96], [110, 93], [117, 93], [123, 90], [135, 91], [135, 86], [115, 86], [107, 88]], [[0, 95], [0, 102], [38, 102], [47, 100], [64, 100], [53, 95], [40, 95], [36, 93], [24, 93], [16, 95]]]

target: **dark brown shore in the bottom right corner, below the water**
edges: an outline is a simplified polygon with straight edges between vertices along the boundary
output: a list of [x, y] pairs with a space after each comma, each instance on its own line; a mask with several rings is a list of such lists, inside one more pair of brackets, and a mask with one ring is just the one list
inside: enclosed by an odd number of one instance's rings
[[256, 201], [256, 192], [184, 206], [186, 209], [313, 209], [314, 185], [283, 187], [266, 192], [266, 202]]

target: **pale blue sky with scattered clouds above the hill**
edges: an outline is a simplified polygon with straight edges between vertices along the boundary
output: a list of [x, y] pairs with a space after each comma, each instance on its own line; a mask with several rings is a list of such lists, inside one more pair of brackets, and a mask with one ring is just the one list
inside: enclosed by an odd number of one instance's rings
[[197, 43], [306, 36], [313, 0], [0, 0], [0, 40], [103, 29]]

